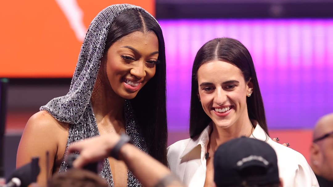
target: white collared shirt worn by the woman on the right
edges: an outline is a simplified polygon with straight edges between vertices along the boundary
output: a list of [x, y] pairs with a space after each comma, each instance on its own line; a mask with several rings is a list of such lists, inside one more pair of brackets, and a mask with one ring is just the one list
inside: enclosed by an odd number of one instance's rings
[[[167, 159], [172, 173], [189, 187], [202, 187], [206, 178], [207, 144], [211, 125], [194, 139], [179, 140], [167, 148]], [[273, 141], [257, 125], [250, 138], [267, 142], [276, 152], [279, 177], [284, 187], [318, 187], [316, 176], [304, 156]]]

